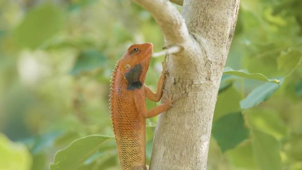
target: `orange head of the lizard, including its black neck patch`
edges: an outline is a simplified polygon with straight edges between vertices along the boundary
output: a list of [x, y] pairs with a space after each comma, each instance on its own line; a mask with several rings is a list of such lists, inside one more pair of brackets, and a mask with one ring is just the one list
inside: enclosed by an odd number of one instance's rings
[[119, 61], [119, 71], [128, 82], [128, 89], [140, 88], [145, 81], [153, 45], [134, 44], [128, 48]]

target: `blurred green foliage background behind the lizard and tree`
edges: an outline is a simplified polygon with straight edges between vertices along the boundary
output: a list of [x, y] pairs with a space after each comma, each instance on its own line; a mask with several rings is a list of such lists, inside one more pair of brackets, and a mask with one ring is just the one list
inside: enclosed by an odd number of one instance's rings
[[[212, 137], [208, 169], [266, 169], [262, 159], [302, 169], [301, 11], [300, 0], [241, 0], [226, 66], [285, 80], [269, 100], [243, 112], [248, 131], [266, 134], [263, 147], [253, 146], [251, 133], [227, 151]], [[131, 1], [0, 0], [0, 169], [49, 169], [73, 140], [113, 136], [111, 72], [127, 47], [141, 42], [152, 42], [155, 52], [164, 46], [155, 20]], [[150, 63], [146, 84], [153, 90], [163, 58]], [[214, 123], [241, 112], [240, 100], [264, 83], [228, 80]], [[156, 121], [147, 120], [147, 162]], [[77, 169], [119, 169], [113, 139], [99, 152]]]

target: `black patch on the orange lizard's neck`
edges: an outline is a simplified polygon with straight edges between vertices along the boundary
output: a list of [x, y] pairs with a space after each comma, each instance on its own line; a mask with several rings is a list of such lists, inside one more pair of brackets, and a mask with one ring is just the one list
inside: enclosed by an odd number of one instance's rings
[[128, 82], [127, 90], [140, 89], [143, 83], [140, 81], [142, 73], [142, 65], [139, 63], [135, 65], [130, 71], [125, 73], [125, 78]]

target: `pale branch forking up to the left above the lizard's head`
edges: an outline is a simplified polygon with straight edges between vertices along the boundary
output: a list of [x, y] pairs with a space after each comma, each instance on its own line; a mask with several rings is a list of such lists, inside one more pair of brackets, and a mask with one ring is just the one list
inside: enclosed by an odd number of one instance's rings
[[162, 30], [167, 45], [182, 44], [190, 38], [184, 18], [168, 0], [134, 0], [149, 11]]

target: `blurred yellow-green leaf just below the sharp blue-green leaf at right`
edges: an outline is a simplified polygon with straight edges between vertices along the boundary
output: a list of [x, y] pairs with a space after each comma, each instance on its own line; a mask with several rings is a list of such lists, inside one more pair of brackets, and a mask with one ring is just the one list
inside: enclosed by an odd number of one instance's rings
[[246, 118], [252, 129], [261, 130], [278, 140], [289, 134], [285, 122], [272, 110], [252, 110], [246, 113]]

